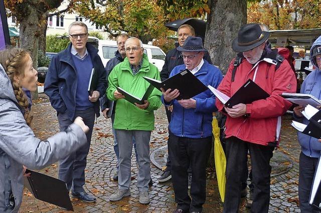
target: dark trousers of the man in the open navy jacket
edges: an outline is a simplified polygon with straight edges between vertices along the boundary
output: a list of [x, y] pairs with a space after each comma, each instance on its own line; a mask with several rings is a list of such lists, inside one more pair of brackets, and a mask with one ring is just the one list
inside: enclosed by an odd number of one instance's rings
[[95, 121], [94, 108], [76, 110], [73, 120], [69, 119], [67, 113], [58, 113], [58, 122], [60, 130], [64, 131], [77, 116], [81, 116], [84, 123], [89, 127], [89, 131], [86, 133], [87, 143], [59, 161], [59, 179], [67, 183], [69, 190], [72, 189], [73, 192], [82, 192], [84, 191], [83, 185], [85, 184], [87, 154], [89, 152], [91, 134]]

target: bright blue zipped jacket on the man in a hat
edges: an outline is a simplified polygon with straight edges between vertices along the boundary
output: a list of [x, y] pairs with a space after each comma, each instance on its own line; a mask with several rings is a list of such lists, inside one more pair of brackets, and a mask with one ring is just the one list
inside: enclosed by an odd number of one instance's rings
[[[185, 64], [176, 66], [170, 74], [170, 77], [185, 69]], [[204, 60], [201, 69], [195, 73], [195, 76], [206, 86], [211, 85], [217, 88], [222, 81], [222, 72], [219, 68], [209, 64]], [[173, 104], [172, 118], [170, 122], [170, 131], [179, 137], [202, 138], [212, 135], [212, 112], [217, 111], [215, 106], [215, 95], [210, 89], [192, 97], [196, 100], [196, 108], [184, 108], [176, 100], [170, 104], [162, 102], [168, 106]]]

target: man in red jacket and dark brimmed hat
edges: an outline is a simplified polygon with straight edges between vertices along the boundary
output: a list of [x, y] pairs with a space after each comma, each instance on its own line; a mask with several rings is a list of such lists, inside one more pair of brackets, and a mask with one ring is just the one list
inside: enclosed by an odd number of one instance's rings
[[[281, 115], [291, 106], [282, 92], [295, 92], [296, 79], [287, 60], [276, 60], [277, 50], [267, 45], [269, 32], [257, 23], [243, 25], [232, 48], [239, 52], [240, 62], [234, 69], [229, 65], [218, 89], [232, 96], [248, 79], [270, 94], [249, 104], [239, 103], [232, 108], [217, 98], [216, 106], [227, 114], [226, 119], [226, 190], [223, 212], [237, 212], [240, 202], [241, 177], [250, 151], [254, 193], [252, 212], [268, 212], [270, 199], [270, 159], [277, 146]], [[280, 63], [277, 65], [277, 63]], [[234, 74], [232, 74], [234, 72]], [[233, 75], [233, 76], [232, 76]]]

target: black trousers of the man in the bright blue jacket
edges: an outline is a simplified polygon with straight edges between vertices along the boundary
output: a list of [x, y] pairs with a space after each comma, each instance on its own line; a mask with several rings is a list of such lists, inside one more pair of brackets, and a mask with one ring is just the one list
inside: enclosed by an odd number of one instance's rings
[[[172, 182], [177, 208], [202, 211], [206, 199], [206, 163], [213, 138], [178, 137], [170, 132]], [[188, 168], [192, 167], [191, 196], [188, 194]]]

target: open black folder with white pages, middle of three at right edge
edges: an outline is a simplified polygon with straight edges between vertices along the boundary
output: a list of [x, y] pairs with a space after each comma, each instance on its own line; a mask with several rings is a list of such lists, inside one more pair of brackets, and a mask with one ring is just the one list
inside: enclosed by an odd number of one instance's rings
[[303, 116], [309, 120], [306, 125], [297, 121], [292, 121], [291, 125], [303, 134], [320, 139], [321, 138], [321, 110], [307, 105], [302, 111]]

